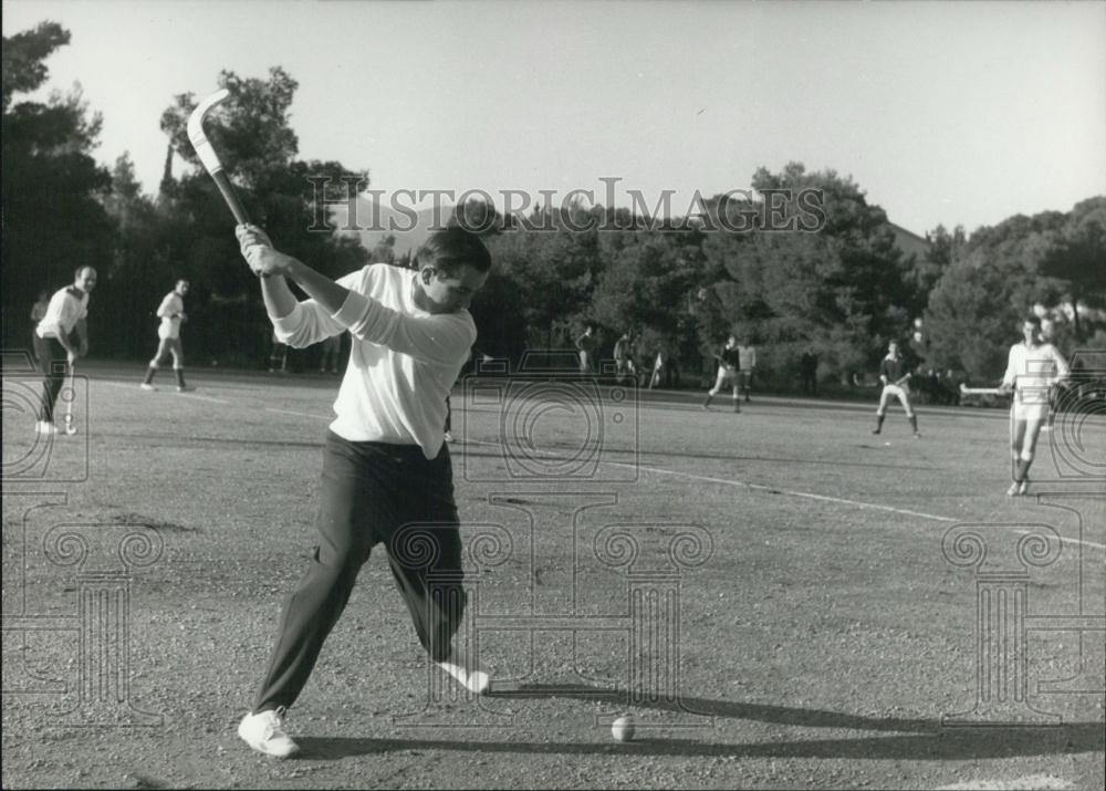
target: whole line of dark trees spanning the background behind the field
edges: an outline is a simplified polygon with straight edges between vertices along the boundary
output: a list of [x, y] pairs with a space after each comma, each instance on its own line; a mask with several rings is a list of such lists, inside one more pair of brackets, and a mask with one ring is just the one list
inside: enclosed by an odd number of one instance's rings
[[[100, 117], [79, 90], [45, 103], [14, 102], [43, 84], [45, 59], [67, 42], [53, 23], [3, 41], [6, 345], [24, 343], [39, 290], [91, 263], [101, 271], [90, 316], [95, 354], [148, 355], [153, 310], [176, 278], [187, 277], [192, 358], [260, 362], [269, 325], [229, 214], [198, 167], [173, 174], [175, 157], [198, 165], [185, 131], [195, 96], [173, 97], [163, 114], [165, 175], [157, 196], [144, 195], [127, 155], [113, 169], [96, 165]], [[356, 235], [309, 230], [309, 177], [331, 176], [342, 189], [342, 177], [367, 173], [298, 158], [289, 122], [295, 80], [275, 67], [264, 80], [223, 72], [219, 82], [232, 98], [210, 118], [209, 136], [255, 221], [282, 249], [331, 275], [387, 259], [386, 243], [369, 251]], [[1052, 311], [1066, 351], [1106, 347], [1106, 197], [1067, 212], [1018, 216], [970, 238], [962, 228], [937, 228], [927, 253], [907, 256], [886, 214], [851, 178], [793, 163], [779, 173], [761, 168], [751, 186], [761, 195], [820, 190], [824, 226], [710, 230], [718, 225], [711, 218], [724, 212], [763, 216], [763, 206], [723, 198], [707, 201], [706, 229], [658, 228], [625, 209], [580, 205], [535, 209], [542, 221], [525, 225], [544, 230], [491, 223], [495, 268], [472, 308], [480, 351], [517, 361], [526, 348], [571, 347], [593, 324], [607, 350], [628, 331], [643, 352], [664, 352], [698, 373], [708, 347], [735, 332], [761, 350], [762, 373], [786, 387], [804, 353], [817, 355], [823, 379], [847, 382], [898, 339], [924, 366], [989, 379], [1001, 373], [1019, 320], [1033, 305]], [[797, 216], [803, 206], [791, 201], [780, 211]], [[601, 230], [601, 220], [626, 230]], [[917, 320], [924, 330], [914, 337]]]

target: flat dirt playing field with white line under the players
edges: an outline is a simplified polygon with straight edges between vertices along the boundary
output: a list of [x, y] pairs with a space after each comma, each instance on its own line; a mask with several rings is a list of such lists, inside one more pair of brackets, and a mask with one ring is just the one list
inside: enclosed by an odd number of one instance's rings
[[[1103, 787], [1106, 416], [462, 383], [474, 698], [383, 553], [275, 761], [237, 737], [314, 533], [335, 377], [4, 372], [4, 788]], [[632, 715], [636, 737], [612, 739]]]

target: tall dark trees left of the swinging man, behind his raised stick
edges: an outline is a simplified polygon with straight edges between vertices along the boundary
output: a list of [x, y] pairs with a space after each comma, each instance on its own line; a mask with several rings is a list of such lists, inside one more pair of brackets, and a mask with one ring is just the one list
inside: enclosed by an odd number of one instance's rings
[[[143, 357], [150, 353], [154, 311], [177, 278], [192, 282], [185, 333], [195, 361], [259, 360], [269, 330], [257, 283], [241, 266], [232, 220], [213, 183], [198, 168], [187, 121], [196, 100], [175, 96], [160, 124], [166, 134], [165, 175], [157, 196], [143, 194], [134, 164], [123, 154], [114, 167], [92, 152], [101, 127], [80, 89], [42, 102], [14, 102], [46, 80], [45, 59], [67, 44], [54, 22], [3, 39], [3, 339], [29, 345], [29, 312], [41, 290], [72, 282], [91, 264], [100, 284], [88, 316], [93, 354]], [[298, 87], [281, 69], [268, 79], [223, 72], [219, 82], [236, 101], [209, 132], [225, 164], [242, 184], [255, 221], [283, 249], [336, 277], [364, 264], [355, 239], [313, 233], [309, 175], [361, 176], [336, 162], [296, 158], [289, 107]], [[195, 166], [177, 178], [174, 158]], [[306, 188], [306, 189], [305, 189]]]

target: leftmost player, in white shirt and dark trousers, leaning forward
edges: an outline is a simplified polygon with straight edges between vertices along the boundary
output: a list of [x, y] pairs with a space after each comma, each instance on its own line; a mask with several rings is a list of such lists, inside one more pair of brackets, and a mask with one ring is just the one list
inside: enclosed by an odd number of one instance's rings
[[[65, 382], [65, 372], [73, 370], [79, 357], [88, 353], [88, 294], [96, 287], [96, 270], [81, 267], [74, 273], [73, 284], [54, 292], [46, 314], [35, 327], [42, 341], [39, 370], [42, 372], [42, 406], [35, 431], [58, 434], [54, 426], [54, 405]], [[62, 364], [64, 361], [64, 365]]]

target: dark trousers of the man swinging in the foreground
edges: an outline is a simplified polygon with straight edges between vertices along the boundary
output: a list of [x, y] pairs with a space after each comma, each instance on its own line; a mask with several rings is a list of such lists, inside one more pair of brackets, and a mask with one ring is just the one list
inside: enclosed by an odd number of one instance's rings
[[315, 527], [319, 545], [284, 605], [254, 712], [291, 706], [299, 697], [377, 543], [385, 545], [419, 643], [431, 658], [449, 657], [465, 613], [447, 446], [428, 461], [418, 446], [351, 443], [328, 431]]

